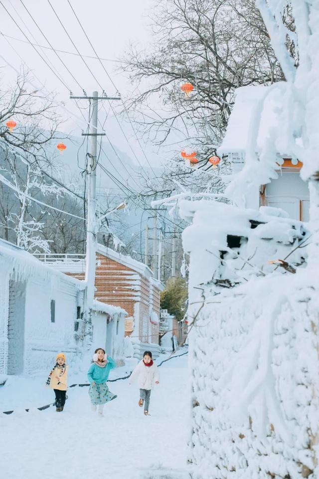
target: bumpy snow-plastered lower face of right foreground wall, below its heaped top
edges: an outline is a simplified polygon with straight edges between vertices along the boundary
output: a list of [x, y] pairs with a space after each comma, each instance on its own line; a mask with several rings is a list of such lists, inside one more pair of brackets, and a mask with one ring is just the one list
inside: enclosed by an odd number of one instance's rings
[[313, 293], [304, 270], [251, 280], [200, 311], [189, 340], [193, 479], [317, 477]]

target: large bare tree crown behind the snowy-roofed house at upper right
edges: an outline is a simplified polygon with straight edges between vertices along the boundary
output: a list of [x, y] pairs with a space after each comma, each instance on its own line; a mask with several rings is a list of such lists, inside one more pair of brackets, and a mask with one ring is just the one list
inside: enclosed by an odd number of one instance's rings
[[[207, 157], [221, 141], [234, 90], [283, 79], [262, 17], [254, 0], [165, 0], [152, 20], [153, 51], [132, 47], [123, 62], [137, 91], [128, 106], [155, 144], [175, 132]], [[180, 90], [185, 81], [194, 87], [189, 98]]]

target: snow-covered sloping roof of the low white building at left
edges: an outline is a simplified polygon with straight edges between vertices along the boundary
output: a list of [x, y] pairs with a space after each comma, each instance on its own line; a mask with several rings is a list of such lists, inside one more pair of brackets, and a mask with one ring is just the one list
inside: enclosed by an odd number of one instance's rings
[[74, 284], [80, 290], [85, 289], [86, 286], [85, 281], [66, 276], [62, 272], [52, 269], [28, 251], [0, 238], [0, 261], [1, 260], [7, 264], [10, 273], [12, 274], [14, 272], [17, 277], [27, 278], [31, 275], [35, 275], [49, 278], [55, 276], [63, 281]]

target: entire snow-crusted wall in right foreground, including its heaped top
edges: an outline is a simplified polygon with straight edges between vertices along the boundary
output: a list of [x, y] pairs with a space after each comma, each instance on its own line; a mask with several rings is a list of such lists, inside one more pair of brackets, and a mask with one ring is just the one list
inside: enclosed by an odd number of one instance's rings
[[272, 208], [179, 211], [191, 222], [192, 479], [315, 478], [319, 279], [307, 227]]

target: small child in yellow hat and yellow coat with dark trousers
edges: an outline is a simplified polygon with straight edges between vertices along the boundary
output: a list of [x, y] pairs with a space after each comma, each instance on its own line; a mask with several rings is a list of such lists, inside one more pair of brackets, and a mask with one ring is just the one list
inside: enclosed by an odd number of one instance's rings
[[65, 395], [68, 388], [68, 365], [64, 353], [56, 356], [56, 362], [50, 371], [46, 385], [53, 389], [55, 393], [55, 407], [58, 413], [63, 411], [65, 404]]

